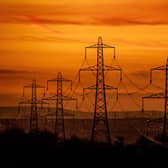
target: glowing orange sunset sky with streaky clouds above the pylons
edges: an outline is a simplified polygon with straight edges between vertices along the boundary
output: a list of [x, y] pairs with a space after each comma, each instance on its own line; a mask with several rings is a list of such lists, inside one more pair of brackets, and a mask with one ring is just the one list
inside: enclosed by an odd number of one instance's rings
[[[22, 86], [32, 78], [45, 84], [61, 71], [73, 80], [84, 47], [96, 43], [98, 36], [116, 46], [124, 72], [143, 87], [150, 68], [166, 63], [168, 1], [0, 0], [0, 32], [0, 106], [17, 105]], [[109, 65], [111, 53], [105, 54]], [[95, 58], [91, 51], [91, 65]], [[87, 78], [85, 74], [83, 80]], [[155, 83], [164, 86], [163, 79], [156, 74]]]

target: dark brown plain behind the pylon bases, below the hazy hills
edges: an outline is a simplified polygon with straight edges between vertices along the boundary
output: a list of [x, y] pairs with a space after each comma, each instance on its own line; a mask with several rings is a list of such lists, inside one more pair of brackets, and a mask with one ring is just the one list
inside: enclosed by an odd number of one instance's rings
[[[79, 139], [90, 141], [93, 120], [92, 119], [65, 119], [66, 139], [71, 139], [74, 135]], [[55, 119], [39, 119], [39, 129], [41, 132], [54, 133]], [[139, 133], [135, 129], [144, 132], [146, 128], [146, 119], [110, 119], [109, 120], [111, 140], [114, 142], [118, 136], [124, 137], [125, 144], [132, 144], [139, 139]], [[17, 128], [19, 130], [28, 130], [30, 128], [30, 119], [0, 119], [0, 132], [8, 129]]]

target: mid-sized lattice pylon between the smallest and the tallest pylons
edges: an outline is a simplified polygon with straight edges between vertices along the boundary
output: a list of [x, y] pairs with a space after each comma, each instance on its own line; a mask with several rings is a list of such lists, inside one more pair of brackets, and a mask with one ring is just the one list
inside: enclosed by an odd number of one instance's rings
[[72, 80], [67, 80], [62, 77], [61, 72], [58, 72], [57, 78], [52, 80], [47, 80], [47, 90], [48, 90], [48, 83], [49, 82], [56, 82], [57, 83], [57, 93], [56, 95], [44, 98], [43, 100], [56, 100], [56, 120], [55, 120], [55, 134], [58, 138], [62, 141], [65, 140], [65, 128], [64, 128], [64, 108], [63, 108], [63, 101], [76, 101], [77, 107], [77, 99], [63, 96], [63, 82], [70, 82], [71, 90], [72, 90]]

